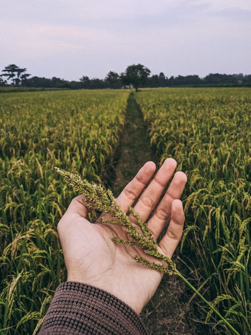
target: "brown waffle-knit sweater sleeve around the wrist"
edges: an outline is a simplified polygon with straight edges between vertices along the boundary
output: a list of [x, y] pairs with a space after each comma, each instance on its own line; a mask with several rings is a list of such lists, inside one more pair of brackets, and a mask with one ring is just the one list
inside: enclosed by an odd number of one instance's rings
[[146, 335], [139, 315], [115, 296], [90, 285], [65, 282], [58, 286], [39, 335]]

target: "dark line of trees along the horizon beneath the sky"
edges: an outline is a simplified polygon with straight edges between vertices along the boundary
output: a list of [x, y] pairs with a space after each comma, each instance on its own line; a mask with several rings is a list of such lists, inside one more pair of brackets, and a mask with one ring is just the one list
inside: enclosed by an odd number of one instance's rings
[[[169, 86], [224, 86], [246, 85], [251, 86], [251, 74], [220, 74], [210, 73], [204, 78], [198, 75], [178, 75], [167, 77], [163, 72], [153, 74], [142, 64], [133, 64], [126, 71], [118, 74], [109, 71], [104, 79], [89, 78], [83, 75], [79, 81], [68, 81], [57, 77], [45, 78], [27, 73], [26, 68], [10, 64], [0, 74], [0, 86], [40, 87], [40, 88], [69, 88], [69, 89], [98, 89], [134, 87], [169, 87]], [[30, 77], [30, 78], [29, 78]]]

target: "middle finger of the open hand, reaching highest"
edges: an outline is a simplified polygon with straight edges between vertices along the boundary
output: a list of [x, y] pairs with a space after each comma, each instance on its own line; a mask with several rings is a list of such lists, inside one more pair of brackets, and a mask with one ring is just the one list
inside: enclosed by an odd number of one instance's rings
[[[147, 220], [148, 216], [158, 203], [161, 194], [174, 173], [176, 165], [177, 163], [173, 158], [167, 158], [147, 189], [142, 193], [139, 201], [136, 203], [134, 209], [143, 221]], [[132, 215], [130, 215], [130, 219], [136, 223], [136, 220]]]

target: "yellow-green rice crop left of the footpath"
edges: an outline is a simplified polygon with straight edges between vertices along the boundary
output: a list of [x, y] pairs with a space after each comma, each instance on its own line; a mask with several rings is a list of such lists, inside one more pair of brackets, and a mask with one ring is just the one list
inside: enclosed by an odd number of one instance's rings
[[129, 91], [0, 95], [0, 333], [37, 333], [65, 280], [56, 225], [73, 192], [54, 166], [100, 182]]

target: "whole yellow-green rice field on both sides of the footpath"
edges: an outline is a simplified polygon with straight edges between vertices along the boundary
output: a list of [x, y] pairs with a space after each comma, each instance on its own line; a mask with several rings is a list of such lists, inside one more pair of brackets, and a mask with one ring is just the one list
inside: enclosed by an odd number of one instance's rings
[[[129, 94], [0, 94], [1, 334], [38, 333], [56, 287], [66, 280], [56, 226], [75, 194], [53, 167], [103, 182], [122, 138]], [[247, 335], [251, 89], [143, 89], [134, 97], [159, 160], [173, 157], [188, 176], [179, 250], [184, 270]], [[192, 300], [197, 319], [215, 327], [212, 334], [231, 334], [199, 298]]]

